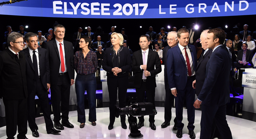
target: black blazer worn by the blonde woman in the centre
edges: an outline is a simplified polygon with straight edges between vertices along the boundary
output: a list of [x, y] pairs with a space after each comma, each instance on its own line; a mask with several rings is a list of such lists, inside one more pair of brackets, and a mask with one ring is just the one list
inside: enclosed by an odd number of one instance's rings
[[[122, 50], [120, 50], [117, 55], [119, 55], [119, 68], [122, 69], [122, 72], [118, 73], [119, 77], [124, 77], [129, 75], [129, 70], [132, 67], [132, 61], [131, 61], [131, 55], [130, 55], [130, 50], [127, 47], [121, 46]], [[107, 71], [107, 76], [108, 77], [114, 77], [114, 73], [112, 72], [113, 63], [112, 63], [112, 58], [113, 54], [115, 52], [112, 51], [112, 48], [107, 48], [104, 52], [103, 55], [103, 64], [102, 64], [102, 69]]]

